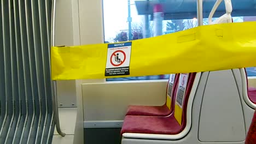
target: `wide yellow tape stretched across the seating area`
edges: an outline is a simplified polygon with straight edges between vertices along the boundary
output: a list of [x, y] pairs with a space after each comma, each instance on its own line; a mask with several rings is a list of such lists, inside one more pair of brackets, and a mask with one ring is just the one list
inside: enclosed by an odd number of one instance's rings
[[[125, 50], [128, 52], [126, 60], [120, 51], [115, 52], [122, 49], [108, 47], [111, 46], [94, 44], [52, 47], [52, 79], [103, 79], [253, 67], [256, 66], [256, 22], [200, 26], [158, 37], [133, 40], [131, 53], [129, 49]], [[117, 75], [105, 76], [109, 61], [112, 66], [129, 61], [130, 74], [118, 75], [127, 71], [110, 69], [113, 70], [112, 74]], [[123, 65], [127, 66], [127, 63]], [[117, 66], [119, 67], [120, 65]]]

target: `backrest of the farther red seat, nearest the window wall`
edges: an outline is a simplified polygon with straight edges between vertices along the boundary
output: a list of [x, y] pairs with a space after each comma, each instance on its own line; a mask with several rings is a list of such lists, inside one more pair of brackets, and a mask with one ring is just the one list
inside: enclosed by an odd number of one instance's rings
[[174, 90], [178, 83], [179, 74], [170, 74], [168, 83], [167, 83], [167, 90], [166, 90], [166, 105], [172, 111], [173, 104], [172, 99], [174, 95]]

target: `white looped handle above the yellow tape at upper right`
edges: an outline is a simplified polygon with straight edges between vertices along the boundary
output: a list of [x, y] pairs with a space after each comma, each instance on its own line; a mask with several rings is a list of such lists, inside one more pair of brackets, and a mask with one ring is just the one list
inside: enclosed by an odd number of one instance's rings
[[217, 2], [214, 4], [212, 11], [208, 17], [208, 23], [209, 25], [215, 24], [215, 23], [229, 23], [232, 22], [232, 17], [231, 17], [231, 13], [232, 13], [232, 3], [231, 0], [224, 0], [225, 2], [225, 9], [226, 9], [226, 14], [224, 14], [223, 16], [220, 16], [217, 20], [212, 21], [212, 17], [215, 13], [215, 11], [217, 10], [217, 8], [219, 7], [219, 4], [222, 2], [223, 0], [217, 0]]

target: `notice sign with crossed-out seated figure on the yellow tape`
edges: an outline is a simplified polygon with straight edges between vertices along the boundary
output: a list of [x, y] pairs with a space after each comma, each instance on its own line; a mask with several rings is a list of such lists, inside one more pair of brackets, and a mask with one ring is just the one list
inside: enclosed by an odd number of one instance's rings
[[108, 44], [105, 76], [130, 75], [131, 44]]

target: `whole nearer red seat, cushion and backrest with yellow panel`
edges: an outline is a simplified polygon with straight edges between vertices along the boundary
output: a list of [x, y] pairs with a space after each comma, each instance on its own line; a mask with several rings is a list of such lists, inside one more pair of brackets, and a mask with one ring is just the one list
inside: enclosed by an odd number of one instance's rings
[[[172, 105], [173, 112], [167, 117], [153, 117], [153, 116], [125, 116], [121, 134], [124, 133], [141, 133], [141, 134], [168, 134], [174, 135], [181, 133], [187, 123], [187, 104], [190, 95], [191, 88], [195, 79], [196, 73], [188, 74], [188, 82], [185, 86], [185, 92], [183, 97], [182, 108], [176, 104], [176, 95], [178, 93], [178, 87], [182, 83], [181, 76], [179, 76], [179, 84], [174, 90]], [[180, 114], [179, 118], [175, 113]], [[182, 112], [182, 113], [181, 113]]]

